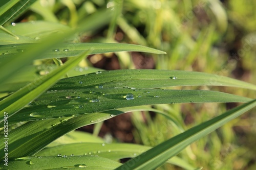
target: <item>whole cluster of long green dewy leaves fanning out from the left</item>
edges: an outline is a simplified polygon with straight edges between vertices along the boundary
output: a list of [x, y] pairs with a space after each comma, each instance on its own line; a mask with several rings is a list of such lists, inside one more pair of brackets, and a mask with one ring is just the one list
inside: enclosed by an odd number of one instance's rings
[[[3, 1], [0, 7], [0, 23], [4, 26], [0, 32], [0, 124], [1, 140], [8, 140], [8, 144], [0, 142], [3, 169], [155, 169], [165, 163], [197, 169], [177, 155], [189, 144], [256, 106], [255, 100], [244, 96], [168, 88], [227, 86], [256, 90], [253, 84], [203, 72], [125, 69], [71, 74], [70, 70], [80, 61], [85, 62], [84, 58], [90, 54], [136, 51], [161, 55], [165, 52], [134, 44], [75, 42], [78, 33], [93, 32], [114, 23], [120, 11], [111, 7], [82, 17], [69, 1], [61, 1], [72, 13], [68, 27], [57, 22], [51, 10], [34, 2]], [[38, 14], [45, 12], [42, 17], [50, 21], [11, 24], [30, 6]], [[124, 23], [121, 19], [118, 22]], [[109, 37], [115, 30], [111, 26]], [[26, 27], [31, 30], [25, 30]], [[68, 58], [65, 63], [59, 59], [63, 57]], [[43, 69], [44, 74], [38, 74], [35, 67], [44, 66], [50, 66], [49, 70]], [[187, 131], [180, 127], [175, 116], [149, 106], [214, 102], [244, 104]], [[141, 110], [163, 115], [181, 133], [152, 148], [105, 143], [101, 138], [73, 131]], [[132, 159], [122, 164], [119, 160], [123, 158]]]

